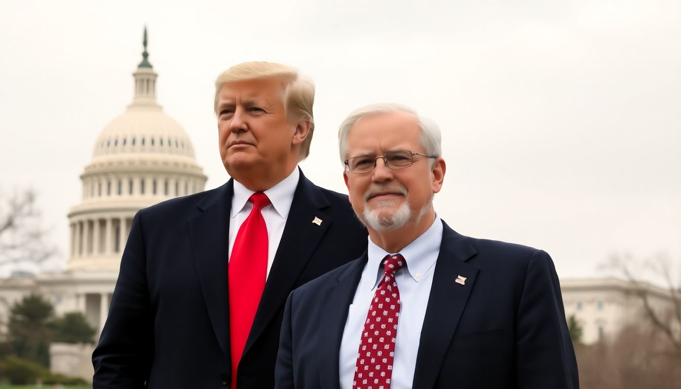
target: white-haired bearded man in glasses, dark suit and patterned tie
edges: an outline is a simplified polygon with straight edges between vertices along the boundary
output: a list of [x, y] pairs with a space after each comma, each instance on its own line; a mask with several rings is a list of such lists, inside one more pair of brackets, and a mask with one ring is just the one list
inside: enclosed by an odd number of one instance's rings
[[289, 295], [275, 388], [577, 388], [549, 255], [462, 236], [434, 211], [437, 125], [375, 104], [338, 138], [368, 248]]

